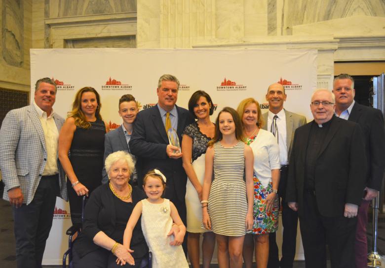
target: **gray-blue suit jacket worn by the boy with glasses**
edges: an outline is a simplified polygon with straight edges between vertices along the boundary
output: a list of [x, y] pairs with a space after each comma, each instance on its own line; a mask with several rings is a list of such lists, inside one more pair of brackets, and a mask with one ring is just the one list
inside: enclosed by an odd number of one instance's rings
[[[126, 151], [129, 152], [126, 137], [124, 136], [123, 125], [118, 127], [116, 130], [113, 130], [109, 133], [106, 133], [104, 139], [104, 161], [106, 161], [107, 156], [116, 151]], [[108, 182], [108, 175], [106, 169], [103, 168], [103, 183]]]

